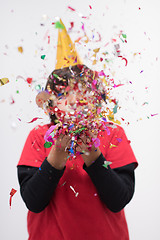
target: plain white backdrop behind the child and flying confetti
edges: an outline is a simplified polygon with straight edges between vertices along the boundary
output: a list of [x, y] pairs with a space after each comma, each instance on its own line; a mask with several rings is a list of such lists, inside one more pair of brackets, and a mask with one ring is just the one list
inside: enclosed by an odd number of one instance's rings
[[[68, 6], [76, 11], [69, 10]], [[82, 23], [86, 32], [96, 29], [93, 32], [101, 34], [102, 41], [98, 44], [103, 46], [119, 30], [127, 35], [127, 44], [123, 44], [122, 50], [128, 65], [119, 67], [120, 62], [112, 65], [116, 79], [132, 82], [127, 85], [129, 88], [132, 85], [131, 89], [126, 87], [122, 91], [122, 98], [125, 96], [122, 105], [126, 104], [124, 113], [130, 122], [123, 127], [139, 167], [135, 195], [126, 207], [126, 216], [131, 240], [160, 239], [159, 9], [158, 0], [0, 0], [0, 78], [10, 80], [0, 87], [0, 239], [27, 239], [27, 210], [20, 197], [16, 165], [29, 131], [48, 121], [35, 104], [35, 87], [44, 86], [46, 77], [54, 69], [57, 31], [51, 23], [57, 16], [62, 18], [67, 29], [70, 22], [74, 22], [75, 31], [70, 33], [74, 40], [82, 35], [77, 30]], [[89, 19], [82, 18], [89, 14]], [[23, 47], [23, 53], [18, 51], [19, 46]], [[77, 47], [84, 63], [92, 67], [83, 50], [87, 52], [88, 48]], [[46, 55], [44, 60], [41, 55]], [[28, 77], [33, 78], [31, 86], [25, 81]], [[34, 117], [42, 119], [28, 123]], [[11, 188], [18, 191], [10, 209]]]

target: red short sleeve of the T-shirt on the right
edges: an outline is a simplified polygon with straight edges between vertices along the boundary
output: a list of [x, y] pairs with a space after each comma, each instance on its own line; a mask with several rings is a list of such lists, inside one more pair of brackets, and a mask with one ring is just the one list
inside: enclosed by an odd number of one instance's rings
[[111, 162], [111, 168], [122, 167], [130, 163], [135, 163], [135, 168], [138, 166], [130, 141], [122, 127], [111, 125], [105, 131], [101, 141], [101, 152], [106, 161]]

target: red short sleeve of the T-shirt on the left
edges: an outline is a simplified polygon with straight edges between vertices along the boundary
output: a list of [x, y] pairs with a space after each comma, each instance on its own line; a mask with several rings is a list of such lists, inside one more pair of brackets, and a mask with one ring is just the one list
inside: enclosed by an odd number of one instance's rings
[[42, 126], [35, 127], [28, 135], [18, 165], [40, 167], [46, 158], [44, 147], [44, 129]]

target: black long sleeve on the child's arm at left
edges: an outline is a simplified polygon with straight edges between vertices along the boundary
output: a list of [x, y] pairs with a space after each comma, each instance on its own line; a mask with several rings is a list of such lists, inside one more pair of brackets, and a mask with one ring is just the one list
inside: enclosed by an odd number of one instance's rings
[[21, 196], [30, 211], [41, 212], [49, 204], [64, 170], [57, 170], [47, 159], [40, 168], [18, 166]]

